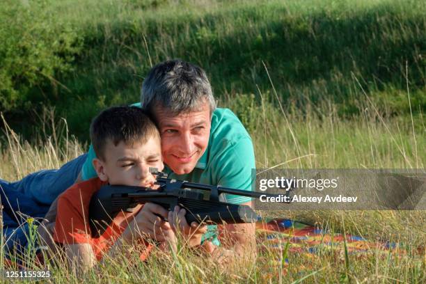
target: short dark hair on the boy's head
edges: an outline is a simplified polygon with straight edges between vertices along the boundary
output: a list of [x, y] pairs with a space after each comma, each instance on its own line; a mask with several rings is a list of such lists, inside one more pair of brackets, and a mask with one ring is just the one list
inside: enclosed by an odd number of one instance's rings
[[121, 141], [127, 145], [146, 143], [151, 137], [159, 139], [159, 132], [150, 117], [139, 107], [110, 107], [96, 116], [90, 125], [90, 139], [96, 157], [105, 160], [105, 145]]

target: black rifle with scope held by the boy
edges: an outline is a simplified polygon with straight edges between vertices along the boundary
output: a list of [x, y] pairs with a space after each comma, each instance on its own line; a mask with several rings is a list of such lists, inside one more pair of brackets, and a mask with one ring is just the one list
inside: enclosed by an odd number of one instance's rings
[[260, 198], [278, 196], [255, 191], [231, 189], [228, 187], [171, 180], [167, 175], [150, 168], [157, 175], [159, 189], [149, 187], [129, 187], [124, 185], [104, 185], [92, 197], [89, 205], [90, 229], [94, 237], [99, 237], [121, 211], [140, 203], [155, 203], [173, 211], [176, 205], [187, 211], [187, 223], [251, 223], [258, 220], [251, 207], [226, 203], [223, 194], [234, 194]]

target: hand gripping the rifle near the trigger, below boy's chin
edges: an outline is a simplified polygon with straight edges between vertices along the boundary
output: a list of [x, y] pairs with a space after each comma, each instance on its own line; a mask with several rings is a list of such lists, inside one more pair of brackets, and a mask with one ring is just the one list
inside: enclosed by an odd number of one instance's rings
[[142, 210], [134, 216], [133, 221], [129, 223], [129, 226], [123, 232], [123, 237], [127, 241], [134, 238], [150, 237], [150, 239], [155, 239], [160, 243], [166, 242], [171, 238], [170, 232], [167, 232], [171, 230], [171, 227], [167, 221], [164, 221], [167, 217], [168, 211], [163, 207], [154, 203], [146, 203]]

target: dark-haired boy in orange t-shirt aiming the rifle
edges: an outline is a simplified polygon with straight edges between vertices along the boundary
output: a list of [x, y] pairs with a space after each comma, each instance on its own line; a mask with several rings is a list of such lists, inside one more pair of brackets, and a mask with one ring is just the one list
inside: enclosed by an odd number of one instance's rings
[[[77, 258], [77, 266], [81, 268], [93, 267], [104, 253], [109, 251], [113, 255], [123, 244], [132, 244], [135, 240], [140, 243], [143, 237], [155, 239], [163, 250], [174, 249], [176, 238], [170, 224], [159, 217], [144, 218], [144, 209], [148, 209], [150, 203], [137, 205], [132, 212], [120, 212], [99, 238], [91, 237], [89, 226], [90, 198], [102, 185], [155, 188], [155, 177], [149, 168], [162, 171], [164, 164], [160, 136], [154, 123], [140, 108], [112, 107], [93, 120], [90, 139], [98, 157], [93, 159], [97, 178], [74, 184], [60, 196], [54, 241], [63, 244], [67, 257]], [[164, 219], [173, 216], [166, 210], [157, 214]], [[160, 231], [154, 231], [155, 223], [161, 223]], [[200, 237], [191, 236], [191, 240]], [[145, 242], [141, 259], [146, 258], [151, 248]]]

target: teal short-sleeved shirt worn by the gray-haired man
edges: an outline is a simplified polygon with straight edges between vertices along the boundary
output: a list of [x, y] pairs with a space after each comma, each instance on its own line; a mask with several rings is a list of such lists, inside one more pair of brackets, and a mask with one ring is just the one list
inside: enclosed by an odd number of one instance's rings
[[[140, 103], [132, 104], [141, 107]], [[90, 145], [86, 162], [81, 168], [81, 178], [95, 178], [92, 161], [95, 151]], [[221, 185], [234, 189], [251, 191], [252, 169], [255, 168], [255, 156], [250, 135], [230, 109], [215, 109], [212, 115], [210, 140], [203, 156], [198, 160], [194, 171], [185, 175], [176, 175], [165, 166], [164, 171], [170, 178], [187, 180], [203, 184]], [[247, 203], [251, 198], [226, 195], [228, 203]], [[216, 226], [208, 226], [203, 239], [212, 239], [216, 245]]]

